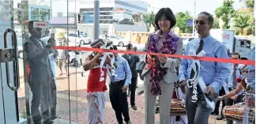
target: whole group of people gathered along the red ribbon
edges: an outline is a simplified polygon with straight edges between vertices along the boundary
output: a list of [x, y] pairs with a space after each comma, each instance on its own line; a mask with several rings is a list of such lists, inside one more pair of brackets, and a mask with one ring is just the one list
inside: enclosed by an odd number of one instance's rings
[[[48, 44], [40, 41], [40, 28], [33, 27], [34, 21], [28, 22], [31, 34], [24, 43], [28, 55], [30, 69], [29, 85], [32, 90], [32, 118], [35, 124], [53, 123], [56, 118], [56, 79], [55, 68], [51, 60], [58, 56], [60, 69], [66, 68], [66, 51], [54, 50], [55, 39]], [[107, 85], [111, 106], [115, 111], [118, 124], [123, 121], [131, 124], [127, 89], [130, 90], [130, 107], [137, 110], [135, 90], [138, 72], [144, 81], [145, 93], [145, 124], [155, 123], [156, 98], [159, 99], [160, 124], [207, 124], [209, 115], [219, 115], [220, 100], [224, 105], [233, 106], [243, 103], [244, 94], [254, 93], [254, 66], [230, 64], [225, 62], [195, 61], [186, 58], [171, 58], [165, 54], [196, 55], [213, 58], [230, 58], [227, 47], [210, 35], [213, 28], [213, 16], [207, 12], [198, 14], [195, 21], [198, 38], [191, 40], [183, 51], [183, 40], [171, 31], [176, 24], [174, 13], [169, 8], [162, 8], [156, 13], [157, 31], [150, 33], [145, 43], [145, 52], [152, 54], [122, 54], [92, 52], [85, 58], [83, 69], [89, 71], [86, 98], [88, 100], [88, 124], [104, 123], [105, 92]], [[109, 48], [104, 39], [95, 39], [90, 46], [93, 48]], [[128, 44], [127, 51], [136, 51], [136, 47]], [[254, 54], [254, 49], [252, 54]], [[232, 53], [231, 59], [239, 59], [239, 53]], [[254, 55], [251, 55], [254, 60]], [[138, 64], [141, 62], [142, 64]], [[61, 73], [62, 74], [62, 73]], [[201, 80], [198, 80], [198, 79]], [[201, 85], [206, 85], [205, 91]], [[171, 100], [183, 102], [186, 115], [170, 116]], [[216, 109], [209, 105], [216, 103]], [[218, 102], [217, 102], [218, 101]], [[245, 105], [244, 105], [245, 106]], [[39, 110], [41, 107], [41, 112]], [[227, 123], [232, 120], [227, 118]], [[235, 122], [234, 122], [235, 123]]]

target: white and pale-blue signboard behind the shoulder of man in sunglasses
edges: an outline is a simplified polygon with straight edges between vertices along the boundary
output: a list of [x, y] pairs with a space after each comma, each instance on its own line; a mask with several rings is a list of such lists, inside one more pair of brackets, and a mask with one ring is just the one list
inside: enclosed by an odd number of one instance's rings
[[211, 29], [210, 34], [221, 43], [224, 43], [231, 52], [234, 51], [234, 30]]

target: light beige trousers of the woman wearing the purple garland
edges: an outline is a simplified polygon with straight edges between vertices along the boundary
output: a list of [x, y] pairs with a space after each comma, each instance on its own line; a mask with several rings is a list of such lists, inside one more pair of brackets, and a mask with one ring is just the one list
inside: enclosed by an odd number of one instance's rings
[[[145, 73], [144, 92], [145, 92], [145, 124], [155, 124], [156, 96], [152, 96], [150, 90], [152, 82], [149, 81], [150, 73]], [[160, 124], [170, 123], [171, 96], [174, 83], [160, 81], [161, 95], [159, 96]]]

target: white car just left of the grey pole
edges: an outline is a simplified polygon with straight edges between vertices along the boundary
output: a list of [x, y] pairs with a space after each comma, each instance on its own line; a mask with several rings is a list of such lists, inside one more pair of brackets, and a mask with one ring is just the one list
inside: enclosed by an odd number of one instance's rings
[[81, 43], [81, 44], [89, 44], [92, 43], [92, 39], [90, 39], [88, 36], [82, 35], [80, 34], [78, 37], [78, 34], [76, 33], [70, 33], [69, 35], [69, 39], [71, 42], [75, 43]]

